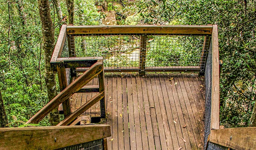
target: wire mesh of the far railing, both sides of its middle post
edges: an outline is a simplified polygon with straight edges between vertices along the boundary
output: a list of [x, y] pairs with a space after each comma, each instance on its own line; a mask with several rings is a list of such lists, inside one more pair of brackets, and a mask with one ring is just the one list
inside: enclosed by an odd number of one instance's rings
[[[168, 34], [94, 34], [70, 36], [71, 57], [99, 57], [105, 69], [133, 69], [141, 71], [142, 47], [146, 47], [145, 67], [150, 69], [200, 66], [203, 72], [209, 43], [202, 35]], [[145, 36], [145, 43], [142, 37]], [[73, 45], [73, 46], [71, 46]], [[198, 68], [197, 68], [198, 69]]]

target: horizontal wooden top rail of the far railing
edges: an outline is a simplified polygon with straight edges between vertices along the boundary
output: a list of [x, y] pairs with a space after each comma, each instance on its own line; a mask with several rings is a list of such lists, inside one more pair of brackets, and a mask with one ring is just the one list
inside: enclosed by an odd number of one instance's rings
[[188, 25], [114, 25], [114, 26], [67, 26], [67, 34], [212, 34], [213, 26]]

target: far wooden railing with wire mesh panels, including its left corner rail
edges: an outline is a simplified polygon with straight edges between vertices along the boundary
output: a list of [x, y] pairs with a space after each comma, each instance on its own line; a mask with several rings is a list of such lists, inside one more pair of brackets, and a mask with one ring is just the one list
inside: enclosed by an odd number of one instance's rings
[[[105, 72], [139, 72], [142, 75], [145, 74], [145, 72], [204, 72], [212, 30], [212, 25], [62, 25], [51, 61], [52, 69], [57, 70], [56, 65], [54, 64], [57, 59], [63, 57], [61, 55], [63, 51], [66, 51], [63, 50], [64, 44], [66, 42], [68, 45], [68, 57], [79, 58], [92, 56], [94, 57], [95, 55], [102, 56], [104, 59]], [[199, 47], [196, 47], [197, 52], [193, 52], [195, 51], [193, 48], [181, 46], [184, 44], [183, 42], [191, 42], [191, 38], [196, 38], [197, 40], [195, 41], [199, 41], [200, 49], [198, 49]], [[156, 45], [154, 41], [156, 41], [156, 43], [159, 45]], [[138, 47], [135, 45], [138, 45]], [[116, 52], [115, 49], [120, 49], [121, 47], [123, 49], [120, 51], [117, 50], [118, 52]], [[168, 50], [172, 51], [173, 54], [169, 54], [170, 56], [167, 56], [166, 60], [152, 60], [150, 54], [154, 53], [154, 51], [159, 49], [159, 47], [162, 49], [162, 51], [160, 50], [161, 54], [165, 54], [164, 51]], [[137, 48], [139, 51], [133, 50]], [[185, 48], [186, 52], [180, 50]], [[175, 54], [175, 51], [181, 51], [181, 54]], [[193, 55], [189, 56], [189, 58], [186, 58], [187, 62], [183, 62], [184, 60], [181, 60], [181, 57], [188, 55], [187, 53], [189, 51], [193, 52]], [[134, 56], [131, 56], [131, 53], [134, 53]], [[125, 55], [127, 57], [123, 59], [123, 56]], [[118, 64], [118, 62], [120, 63]], [[157, 64], [159, 62], [162, 64]], [[154, 63], [157, 65], [154, 65]], [[73, 68], [71, 71], [73, 70], [72, 72], [83, 72], [86, 70], [82, 68], [84, 67]]]

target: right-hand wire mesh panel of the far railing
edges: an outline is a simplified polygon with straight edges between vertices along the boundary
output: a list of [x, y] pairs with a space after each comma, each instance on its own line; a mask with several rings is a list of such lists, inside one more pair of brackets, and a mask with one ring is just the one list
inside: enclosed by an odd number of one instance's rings
[[[148, 35], [146, 67], [158, 69], [179, 66], [182, 68], [202, 64], [204, 69], [206, 56], [202, 56], [202, 50], [209, 44], [204, 43], [204, 38], [205, 36]], [[207, 52], [207, 49], [204, 51]]]

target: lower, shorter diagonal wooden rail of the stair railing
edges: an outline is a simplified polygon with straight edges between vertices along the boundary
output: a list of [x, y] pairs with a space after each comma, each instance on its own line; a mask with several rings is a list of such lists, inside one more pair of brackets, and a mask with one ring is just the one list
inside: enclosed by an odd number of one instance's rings
[[104, 91], [102, 91], [102, 92], [98, 93], [97, 95], [93, 96], [89, 101], [87, 101], [85, 104], [83, 104], [77, 110], [75, 110], [71, 115], [69, 115], [67, 118], [62, 120], [59, 124], [57, 124], [57, 126], [65, 126], [65, 125], [70, 124], [72, 121], [74, 121], [76, 119], [76, 117], [80, 116], [83, 112], [85, 112], [92, 105], [97, 103], [103, 97], [104, 97]]

